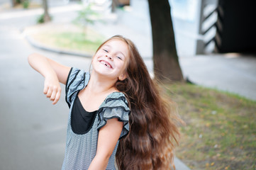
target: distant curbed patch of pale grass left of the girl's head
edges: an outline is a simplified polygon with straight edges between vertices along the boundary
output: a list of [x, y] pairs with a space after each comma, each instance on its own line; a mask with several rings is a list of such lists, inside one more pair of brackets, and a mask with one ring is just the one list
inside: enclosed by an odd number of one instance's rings
[[94, 55], [94, 52], [105, 39], [103, 35], [90, 29], [87, 29], [87, 34], [82, 31], [40, 32], [40, 34], [34, 35], [33, 38], [43, 45], [57, 47], [62, 50], [85, 52], [89, 55]]

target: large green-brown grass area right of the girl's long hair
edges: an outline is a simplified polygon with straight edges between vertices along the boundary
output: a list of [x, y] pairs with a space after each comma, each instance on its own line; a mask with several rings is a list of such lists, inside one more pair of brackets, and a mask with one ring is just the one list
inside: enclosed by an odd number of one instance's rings
[[191, 169], [256, 169], [256, 101], [191, 84], [169, 86], [187, 123], [177, 157]]

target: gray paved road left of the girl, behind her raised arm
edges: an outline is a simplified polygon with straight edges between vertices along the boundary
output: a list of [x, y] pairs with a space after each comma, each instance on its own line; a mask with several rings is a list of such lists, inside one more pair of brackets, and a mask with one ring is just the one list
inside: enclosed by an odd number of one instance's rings
[[60, 169], [68, 107], [63, 93], [57, 106], [45, 99], [43, 77], [28, 66], [27, 56], [40, 52], [85, 69], [90, 60], [35, 50], [16, 28], [2, 25], [0, 44], [0, 169]]

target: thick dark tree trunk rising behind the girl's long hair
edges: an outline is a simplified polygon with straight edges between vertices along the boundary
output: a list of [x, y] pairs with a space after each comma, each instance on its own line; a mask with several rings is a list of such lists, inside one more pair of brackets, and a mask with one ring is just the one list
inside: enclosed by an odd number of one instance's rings
[[152, 26], [154, 74], [160, 81], [184, 81], [179, 66], [168, 0], [148, 0]]

